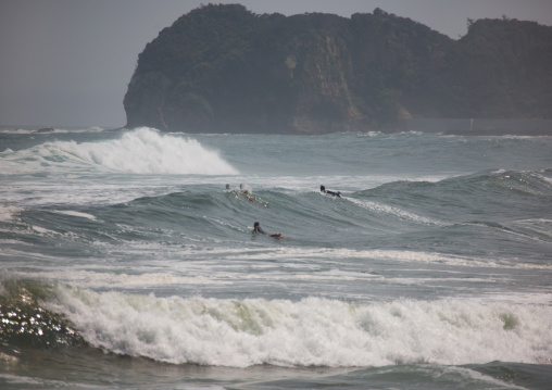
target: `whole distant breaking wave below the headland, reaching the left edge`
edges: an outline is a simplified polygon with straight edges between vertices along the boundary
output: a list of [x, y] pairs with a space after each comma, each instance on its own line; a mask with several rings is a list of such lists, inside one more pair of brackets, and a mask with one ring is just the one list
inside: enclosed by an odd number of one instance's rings
[[[32, 149], [0, 153], [4, 174], [40, 172], [57, 167], [93, 166], [133, 174], [238, 174], [217, 151], [199, 141], [141, 127], [120, 138], [96, 142], [51, 141]], [[83, 166], [84, 165], [84, 166]]]

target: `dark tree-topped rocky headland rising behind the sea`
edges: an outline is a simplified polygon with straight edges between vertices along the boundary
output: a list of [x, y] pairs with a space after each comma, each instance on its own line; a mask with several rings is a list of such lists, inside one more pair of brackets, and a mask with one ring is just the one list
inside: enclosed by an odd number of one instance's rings
[[322, 134], [407, 117], [552, 117], [552, 28], [477, 21], [455, 41], [375, 10], [255, 15], [206, 5], [148, 43], [127, 127]]

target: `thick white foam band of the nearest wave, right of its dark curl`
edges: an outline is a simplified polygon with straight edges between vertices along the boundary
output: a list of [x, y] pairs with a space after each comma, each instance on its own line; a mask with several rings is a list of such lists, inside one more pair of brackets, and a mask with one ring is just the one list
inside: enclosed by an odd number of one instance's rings
[[67, 315], [92, 345], [175, 364], [550, 364], [552, 355], [549, 305], [156, 298], [60, 288], [50, 309]]

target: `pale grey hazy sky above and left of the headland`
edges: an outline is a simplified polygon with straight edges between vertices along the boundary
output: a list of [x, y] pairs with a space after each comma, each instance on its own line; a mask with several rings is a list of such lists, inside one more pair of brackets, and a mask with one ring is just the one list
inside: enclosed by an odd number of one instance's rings
[[[201, 0], [0, 0], [0, 125], [126, 123], [123, 97], [138, 54]], [[552, 0], [234, 0], [255, 13], [349, 17], [380, 8], [457, 39], [467, 18], [552, 25]]]

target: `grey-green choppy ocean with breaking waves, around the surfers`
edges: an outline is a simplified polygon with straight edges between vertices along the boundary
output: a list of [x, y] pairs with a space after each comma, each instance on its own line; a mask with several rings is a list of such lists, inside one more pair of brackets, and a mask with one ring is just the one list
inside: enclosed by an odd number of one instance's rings
[[551, 383], [552, 137], [0, 130], [1, 389]]

